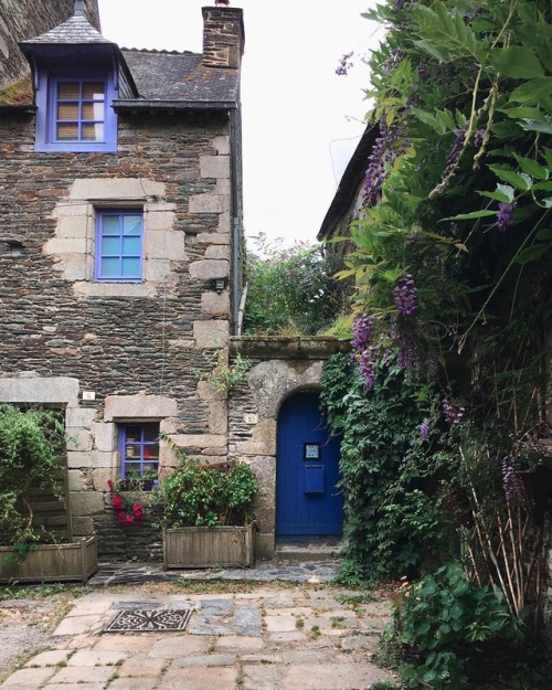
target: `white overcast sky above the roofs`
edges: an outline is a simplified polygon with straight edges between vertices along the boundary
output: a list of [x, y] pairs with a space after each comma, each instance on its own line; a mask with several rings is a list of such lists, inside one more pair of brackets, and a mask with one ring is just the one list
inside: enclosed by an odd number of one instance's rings
[[[102, 33], [121, 47], [202, 52], [202, 0], [99, 0]], [[214, 4], [214, 2], [213, 2]], [[315, 242], [364, 129], [368, 67], [382, 39], [360, 17], [374, 0], [231, 0], [243, 8], [245, 232]], [[336, 75], [343, 53], [354, 67]]]

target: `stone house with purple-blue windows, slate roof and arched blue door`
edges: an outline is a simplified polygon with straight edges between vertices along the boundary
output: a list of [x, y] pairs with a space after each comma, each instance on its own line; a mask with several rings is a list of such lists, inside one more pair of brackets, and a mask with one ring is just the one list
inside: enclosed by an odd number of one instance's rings
[[[93, 0], [55, 4], [34, 2], [36, 21], [7, 25], [2, 49], [0, 403], [64, 411], [72, 533], [96, 532], [100, 558], [160, 555], [148, 521], [117, 523], [107, 485], [170, 471], [160, 432], [204, 464], [253, 466], [261, 558], [278, 532], [340, 533], [316, 390], [341, 346], [237, 337], [242, 10], [204, 7], [194, 54], [120, 49]], [[236, 353], [247, 380], [217, 391], [209, 373]], [[291, 426], [315, 410], [285, 453], [293, 477], [277, 470], [288, 399]]]

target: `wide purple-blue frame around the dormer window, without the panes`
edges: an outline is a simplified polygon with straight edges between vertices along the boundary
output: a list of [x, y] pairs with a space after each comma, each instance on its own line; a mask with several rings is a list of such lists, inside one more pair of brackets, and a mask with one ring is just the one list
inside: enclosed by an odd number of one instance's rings
[[[57, 85], [63, 82], [102, 82], [105, 84], [104, 140], [56, 140]], [[36, 88], [35, 151], [115, 152], [117, 151], [117, 114], [112, 103], [117, 98], [114, 74], [109, 68], [102, 73], [82, 74], [75, 71], [55, 73], [41, 70]]]

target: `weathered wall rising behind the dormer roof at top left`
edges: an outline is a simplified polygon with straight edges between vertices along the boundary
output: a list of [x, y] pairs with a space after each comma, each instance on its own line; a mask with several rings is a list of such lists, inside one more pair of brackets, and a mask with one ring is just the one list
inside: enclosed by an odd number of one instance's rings
[[[88, 19], [99, 29], [97, 0], [87, 0]], [[18, 41], [50, 31], [73, 15], [74, 0], [0, 0], [0, 88], [29, 74]]]

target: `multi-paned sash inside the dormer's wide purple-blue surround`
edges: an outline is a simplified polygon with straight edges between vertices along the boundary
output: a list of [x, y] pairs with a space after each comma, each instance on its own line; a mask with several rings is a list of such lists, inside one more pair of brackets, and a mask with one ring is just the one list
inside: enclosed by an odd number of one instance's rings
[[52, 140], [105, 142], [105, 82], [57, 79]]

